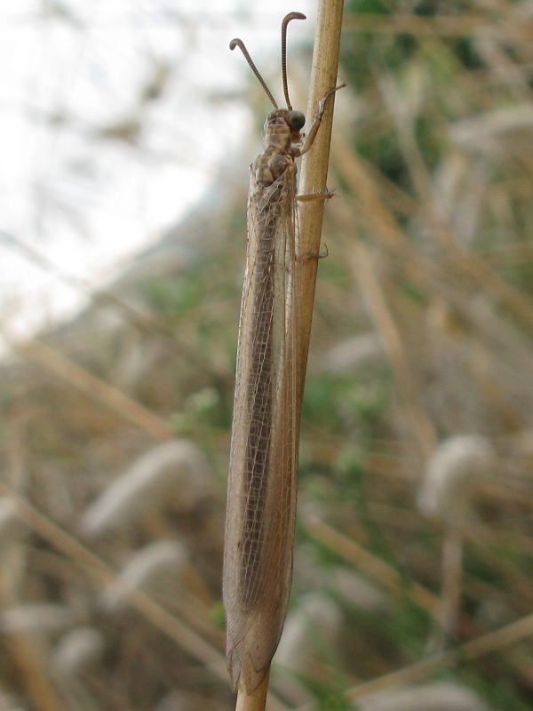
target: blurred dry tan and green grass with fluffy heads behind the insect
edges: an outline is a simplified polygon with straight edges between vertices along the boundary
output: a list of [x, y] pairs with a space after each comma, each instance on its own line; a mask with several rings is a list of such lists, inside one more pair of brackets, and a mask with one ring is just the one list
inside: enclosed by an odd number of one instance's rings
[[[272, 708], [527, 709], [533, 4], [356, 10]], [[0, 708], [232, 706], [244, 204], [237, 180], [219, 188], [4, 365]]]

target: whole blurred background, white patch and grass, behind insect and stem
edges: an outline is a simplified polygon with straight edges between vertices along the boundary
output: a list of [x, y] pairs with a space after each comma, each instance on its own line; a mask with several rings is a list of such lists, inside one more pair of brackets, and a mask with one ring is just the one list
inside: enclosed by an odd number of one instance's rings
[[[235, 700], [248, 166], [314, 2], [0, 3], [0, 709]], [[533, 706], [533, 4], [347, 0], [270, 708]]]

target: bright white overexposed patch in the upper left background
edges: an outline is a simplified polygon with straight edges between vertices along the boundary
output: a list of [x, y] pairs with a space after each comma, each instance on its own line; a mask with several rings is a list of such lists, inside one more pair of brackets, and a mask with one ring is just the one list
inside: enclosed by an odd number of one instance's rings
[[[314, 34], [314, 0], [0, 0], [0, 318], [9, 339], [83, 295], [37, 268], [14, 237], [98, 286], [187, 212], [250, 126], [251, 77]], [[156, 68], [160, 98], [139, 100]], [[277, 95], [278, 85], [274, 85]], [[138, 122], [141, 122], [138, 124]], [[105, 140], [141, 125], [134, 143]], [[244, 126], [244, 128], [243, 128]], [[235, 127], [235, 128], [234, 128]]]

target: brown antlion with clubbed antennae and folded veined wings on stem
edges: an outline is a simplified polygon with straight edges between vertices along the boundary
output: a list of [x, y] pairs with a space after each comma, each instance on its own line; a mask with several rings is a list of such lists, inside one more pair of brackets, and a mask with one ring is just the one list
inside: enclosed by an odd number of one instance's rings
[[[248, 250], [239, 324], [235, 404], [227, 489], [223, 600], [227, 666], [234, 688], [247, 694], [265, 679], [278, 645], [290, 594], [296, 515], [298, 434], [302, 396], [295, 159], [313, 145], [327, 92], [306, 140], [306, 118], [290, 105], [282, 20], [282, 82], [287, 108], [278, 108], [240, 39], [239, 47], [274, 111], [265, 124], [265, 150], [251, 164]], [[345, 84], [342, 84], [344, 86]], [[330, 193], [302, 196], [327, 199]], [[241, 681], [239, 681], [241, 680]]]

